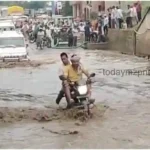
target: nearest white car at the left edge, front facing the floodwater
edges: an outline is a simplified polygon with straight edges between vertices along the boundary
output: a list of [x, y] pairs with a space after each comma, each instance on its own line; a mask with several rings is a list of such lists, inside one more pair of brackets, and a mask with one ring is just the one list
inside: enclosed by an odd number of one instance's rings
[[21, 32], [0, 32], [0, 60], [28, 60], [27, 47]]

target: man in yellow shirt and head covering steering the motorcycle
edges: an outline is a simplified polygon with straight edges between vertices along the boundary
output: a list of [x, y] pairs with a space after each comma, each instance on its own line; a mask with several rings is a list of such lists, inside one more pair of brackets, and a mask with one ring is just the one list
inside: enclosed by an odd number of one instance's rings
[[[64, 70], [64, 77], [66, 78], [66, 80], [63, 81], [63, 90], [67, 100], [67, 108], [71, 108], [74, 105], [70, 91], [72, 83], [79, 82], [82, 79], [83, 74], [87, 76], [87, 78], [89, 79], [88, 83], [90, 83], [90, 74], [80, 64], [80, 58], [77, 55], [73, 55], [71, 57], [71, 63], [72, 64], [69, 65], [67, 69]], [[87, 86], [88, 86], [88, 95], [90, 97], [91, 84], [87, 84]], [[93, 102], [94, 100], [90, 99], [90, 103]]]

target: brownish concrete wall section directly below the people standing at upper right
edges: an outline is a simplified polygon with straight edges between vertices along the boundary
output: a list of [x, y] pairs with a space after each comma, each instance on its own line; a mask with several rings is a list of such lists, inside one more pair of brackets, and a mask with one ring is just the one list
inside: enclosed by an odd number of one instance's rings
[[108, 37], [110, 50], [120, 51], [125, 54], [134, 54], [135, 36], [133, 30], [110, 29]]

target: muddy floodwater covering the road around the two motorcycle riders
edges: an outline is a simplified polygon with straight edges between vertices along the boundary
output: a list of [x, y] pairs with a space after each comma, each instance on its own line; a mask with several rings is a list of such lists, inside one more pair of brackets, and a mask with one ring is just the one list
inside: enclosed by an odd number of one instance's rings
[[[2, 124], [0, 148], [149, 148], [150, 77], [136, 73], [149, 67], [149, 62], [143, 58], [97, 50], [32, 49], [31, 59], [54, 63], [35, 68], [1, 69], [1, 107], [44, 108], [50, 105], [57, 108], [55, 98], [61, 86], [57, 77], [61, 64], [59, 55], [63, 51], [70, 55], [77, 53], [84, 66], [96, 73], [93, 97], [97, 104], [103, 103], [110, 109], [103, 119], [91, 119], [81, 126], [71, 120]], [[136, 71], [132, 75], [113, 72], [126, 69]], [[78, 130], [79, 134], [60, 135], [43, 128]]]

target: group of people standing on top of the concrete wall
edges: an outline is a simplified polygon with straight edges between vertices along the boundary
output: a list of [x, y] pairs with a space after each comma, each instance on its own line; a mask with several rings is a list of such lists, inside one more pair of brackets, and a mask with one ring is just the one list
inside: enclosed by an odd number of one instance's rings
[[109, 28], [132, 28], [141, 20], [142, 7], [140, 2], [127, 6], [127, 11], [119, 6], [108, 8]]

